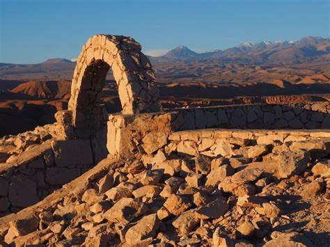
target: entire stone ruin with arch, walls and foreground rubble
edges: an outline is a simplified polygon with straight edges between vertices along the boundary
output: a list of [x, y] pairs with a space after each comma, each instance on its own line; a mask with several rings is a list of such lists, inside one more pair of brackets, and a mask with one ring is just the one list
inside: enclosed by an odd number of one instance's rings
[[329, 246], [329, 102], [162, 111], [155, 82], [132, 38], [88, 40], [69, 110], [0, 140], [0, 246]]

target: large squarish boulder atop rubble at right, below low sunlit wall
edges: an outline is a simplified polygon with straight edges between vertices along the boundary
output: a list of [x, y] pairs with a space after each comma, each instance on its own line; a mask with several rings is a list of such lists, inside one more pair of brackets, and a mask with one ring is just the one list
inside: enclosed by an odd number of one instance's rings
[[279, 177], [299, 175], [308, 166], [309, 153], [304, 150], [282, 152], [278, 155]]

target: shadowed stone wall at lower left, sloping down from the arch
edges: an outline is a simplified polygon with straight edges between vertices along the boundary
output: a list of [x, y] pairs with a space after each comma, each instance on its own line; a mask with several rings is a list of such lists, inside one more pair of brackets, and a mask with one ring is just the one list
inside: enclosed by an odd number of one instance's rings
[[93, 167], [91, 140], [49, 140], [0, 166], [0, 216], [36, 204]]

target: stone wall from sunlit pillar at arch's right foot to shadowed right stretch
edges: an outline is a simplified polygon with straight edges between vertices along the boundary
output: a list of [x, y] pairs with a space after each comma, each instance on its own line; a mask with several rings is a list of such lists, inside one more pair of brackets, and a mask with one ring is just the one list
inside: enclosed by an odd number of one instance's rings
[[[157, 125], [164, 127], [157, 129]], [[330, 104], [255, 104], [114, 114], [109, 115], [107, 148], [111, 155], [121, 157], [151, 154], [164, 147], [173, 132], [207, 128], [330, 129]]]

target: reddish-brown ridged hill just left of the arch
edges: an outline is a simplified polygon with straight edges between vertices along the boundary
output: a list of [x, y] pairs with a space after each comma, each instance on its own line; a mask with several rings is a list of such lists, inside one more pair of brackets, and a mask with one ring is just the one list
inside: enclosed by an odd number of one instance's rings
[[70, 89], [70, 81], [28, 81], [10, 92], [42, 99], [63, 99], [70, 95]]

